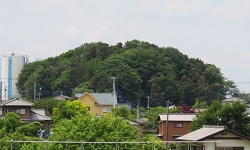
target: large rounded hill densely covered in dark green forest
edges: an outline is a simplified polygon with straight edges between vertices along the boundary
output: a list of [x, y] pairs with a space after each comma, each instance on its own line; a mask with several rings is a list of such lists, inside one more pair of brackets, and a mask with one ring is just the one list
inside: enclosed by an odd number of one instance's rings
[[158, 47], [148, 42], [132, 40], [116, 45], [85, 43], [57, 57], [28, 63], [17, 83], [26, 99], [33, 98], [34, 82], [37, 93], [49, 97], [56, 92], [112, 92], [123, 100], [143, 104], [150, 96], [150, 105], [193, 104], [195, 100], [223, 99], [235, 88], [220, 69], [189, 58], [178, 49]]

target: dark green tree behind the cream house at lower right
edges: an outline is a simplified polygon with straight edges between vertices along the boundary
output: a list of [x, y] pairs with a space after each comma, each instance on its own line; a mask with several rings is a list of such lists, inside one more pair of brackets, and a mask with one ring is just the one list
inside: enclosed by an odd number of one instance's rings
[[250, 116], [246, 112], [246, 105], [240, 101], [231, 104], [213, 101], [210, 107], [197, 115], [190, 129], [194, 131], [203, 125], [223, 125], [230, 130], [250, 136], [249, 122]]

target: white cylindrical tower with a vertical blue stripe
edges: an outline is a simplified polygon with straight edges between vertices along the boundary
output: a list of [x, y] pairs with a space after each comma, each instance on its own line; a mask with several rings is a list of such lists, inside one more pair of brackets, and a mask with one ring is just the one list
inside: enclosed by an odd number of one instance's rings
[[28, 56], [2, 55], [0, 58], [0, 100], [10, 100], [18, 96], [16, 83], [18, 75], [24, 64], [28, 62]]

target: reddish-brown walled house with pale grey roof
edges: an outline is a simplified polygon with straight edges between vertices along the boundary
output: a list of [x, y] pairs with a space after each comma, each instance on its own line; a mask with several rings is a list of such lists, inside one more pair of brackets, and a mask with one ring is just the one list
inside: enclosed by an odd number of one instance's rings
[[157, 135], [163, 141], [174, 141], [189, 132], [195, 117], [196, 114], [160, 114]]

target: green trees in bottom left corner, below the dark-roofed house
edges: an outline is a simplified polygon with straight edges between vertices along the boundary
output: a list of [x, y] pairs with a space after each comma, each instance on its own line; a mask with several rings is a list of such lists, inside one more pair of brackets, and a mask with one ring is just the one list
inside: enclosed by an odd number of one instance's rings
[[[39, 138], [39, 130], [42, 124], [38, 122], [32, 122], [25, 124], [20, 120], [18, 114], [9, 112], [4, 118], [0, 120], [0, 147], [1, 150], [10, 149], [10, 143], [8, 140], [19, 140], [19, 141], [38, 141], [42, 140]], [[31, 146], [32, 145], [32, 146]], [[37, 150], [39, 147], [42, 149], [44, 145], [38, 143], [13, 143], [13, 150]]]

